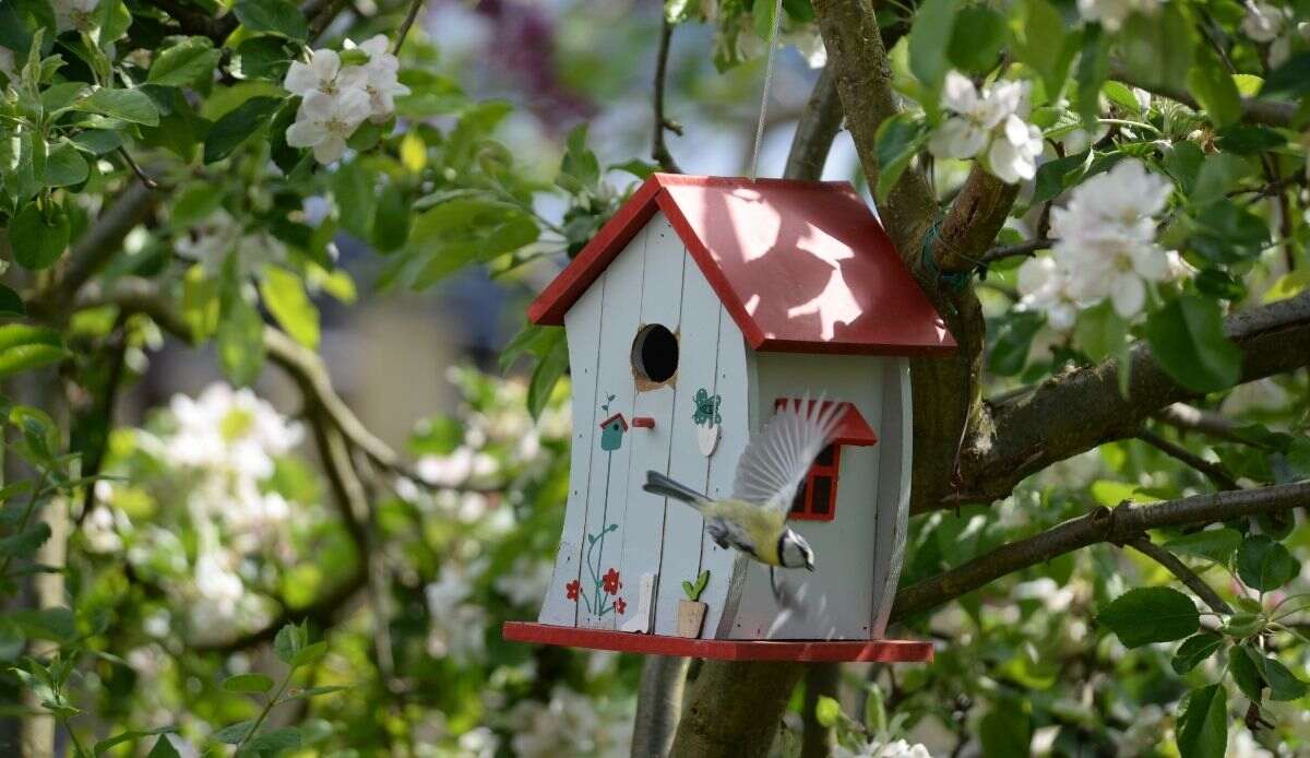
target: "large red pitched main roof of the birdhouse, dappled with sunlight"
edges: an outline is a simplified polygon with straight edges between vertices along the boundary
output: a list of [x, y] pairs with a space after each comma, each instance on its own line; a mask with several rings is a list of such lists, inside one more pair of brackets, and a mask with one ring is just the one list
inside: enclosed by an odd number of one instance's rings
[[664, 211], [756, 350], [922, 355], [955, 340], [848, 182], [656, 173], [528, 308], [565, 313]]

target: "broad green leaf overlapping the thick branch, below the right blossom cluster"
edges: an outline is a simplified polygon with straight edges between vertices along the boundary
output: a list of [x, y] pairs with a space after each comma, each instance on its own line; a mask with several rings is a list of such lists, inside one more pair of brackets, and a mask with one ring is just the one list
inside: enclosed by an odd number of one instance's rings
[[1237, 384], [1242, 351], [1224, 334], [1218, 303], [1182, 295], [1146, 320], [1146, 342], [1165, 371], [1195, 392]]

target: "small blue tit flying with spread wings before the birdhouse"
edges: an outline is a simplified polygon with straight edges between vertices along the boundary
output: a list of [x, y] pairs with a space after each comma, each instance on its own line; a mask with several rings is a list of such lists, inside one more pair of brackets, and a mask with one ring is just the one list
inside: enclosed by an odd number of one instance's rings
[[782, 602], [773, 570], [815, 569], [814, 548], [787, 527], [787, 513], [815, 458], [832, 442], [842, 408], [838, 403], [824, 408], [821, 397], [785, 404], [747, 443], [728, 500], [713, 500], [658, 471], [646, 472], [642, 489], [701, 511], [705, 531], [719, 547], [769, 567], [774, 595]]

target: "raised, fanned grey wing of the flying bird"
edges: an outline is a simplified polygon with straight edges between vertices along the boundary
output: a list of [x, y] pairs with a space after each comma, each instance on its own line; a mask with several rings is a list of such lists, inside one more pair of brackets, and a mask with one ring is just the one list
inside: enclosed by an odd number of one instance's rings
[[751, 438], [738, 462], [732, 498], [786, 513], [815, 458], [832, 442], [844, 403], [789, 400]]

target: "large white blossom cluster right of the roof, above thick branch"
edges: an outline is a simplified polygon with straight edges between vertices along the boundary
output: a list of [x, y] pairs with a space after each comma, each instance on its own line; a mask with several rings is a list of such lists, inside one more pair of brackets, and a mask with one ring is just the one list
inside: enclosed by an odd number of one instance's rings
[[[1129, 319], [1146, 304], [1146, 286], [1176, 275], [1174, 256], [1155, 244], [1154, 215], [1165, 209], [1171, 185], [1137, 160], [1120, 161], [1111, 170], [1073, 190], [1069, 205], [1051, 214], [1053, 247], [1062, 287], [1060, 296], [1091, 304], [1110, 298], [1115, 312]], [[1044, 266], [1049, 266], [1044, 264]], [[1032, 281], [1039, 279], [1030, 269]], [[1041, 286], [1055, 286], [1051, 279]], [[1036, 302], [1055, 296], [1041, 286], [1030, 290]]]

